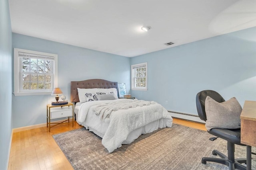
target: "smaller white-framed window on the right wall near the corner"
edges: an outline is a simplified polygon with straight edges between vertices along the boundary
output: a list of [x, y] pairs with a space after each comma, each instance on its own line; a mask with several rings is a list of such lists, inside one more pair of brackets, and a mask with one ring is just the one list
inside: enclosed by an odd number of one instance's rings
[[132, 90], [148, 90], [148, 63], [134, 64], [131, 66]]

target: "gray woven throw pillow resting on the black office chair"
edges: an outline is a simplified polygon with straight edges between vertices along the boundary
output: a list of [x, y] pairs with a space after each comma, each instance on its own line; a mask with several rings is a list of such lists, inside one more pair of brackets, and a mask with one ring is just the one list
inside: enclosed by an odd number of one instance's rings
[[205, 127], [208, 131], [214, 127], [222, 129], [240, 128], [242, 107], [236, 98], [219, 103], [207, 96], [205, 112], [207, 118]]

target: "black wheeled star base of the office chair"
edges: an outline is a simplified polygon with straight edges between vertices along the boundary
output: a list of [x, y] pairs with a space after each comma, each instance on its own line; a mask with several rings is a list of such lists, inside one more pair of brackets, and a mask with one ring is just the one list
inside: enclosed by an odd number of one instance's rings
[[217, 162], [220, 164], [224, 164], [226, 166], [229, 166], [229, 170], [235, 170], [239, 169], [239, 170], [246, 170], [246, 166], [244, 166], [242, 163], [246, 163], [246, 158], [238, 158], [238, 159], [234, 159], [234, 161], [229, 160], [228, 156], [224, 155], [223, 153], [219, 152], [218, 150], [213, 150], [212, 151], [213, 155], [218, 155], [221, 158], [207, 158], [204, 157], [202, 158], [202, 163], [206, 164], [206, 162]]

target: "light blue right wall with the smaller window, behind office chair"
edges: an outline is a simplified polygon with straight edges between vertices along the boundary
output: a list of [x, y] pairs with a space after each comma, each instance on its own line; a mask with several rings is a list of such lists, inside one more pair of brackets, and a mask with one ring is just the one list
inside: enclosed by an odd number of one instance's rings
[[[148, 91], [132, 96], [154, 100], [170, 111], [197, 115], [196, 94], [216, 90], [224, 99], [256, 100], [256, 27], [131, 58], [148, 62]], [[166, 100], [168, 105], [166, 105]]]

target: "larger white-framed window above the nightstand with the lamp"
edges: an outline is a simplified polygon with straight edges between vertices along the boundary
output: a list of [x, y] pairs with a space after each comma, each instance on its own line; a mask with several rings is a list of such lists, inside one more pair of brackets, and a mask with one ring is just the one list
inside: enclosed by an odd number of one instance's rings
[[14, 48], [14, 95], [51, 94], [58, 86], [58, 55]]

